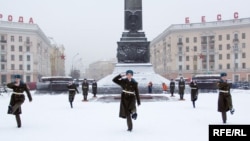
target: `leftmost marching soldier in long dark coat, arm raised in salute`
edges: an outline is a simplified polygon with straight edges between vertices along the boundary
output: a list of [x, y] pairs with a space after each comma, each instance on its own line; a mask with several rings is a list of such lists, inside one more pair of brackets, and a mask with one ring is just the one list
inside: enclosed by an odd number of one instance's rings
[[25, 101], [25, 95], [23, 92], [25, 91], [29, 101], [32, 101], [32, 97], [27, 87], [26, 83], [21, 81], [21, 75], [15, 75], [15, 81], [8, 83], [7, 87], [13, 89], [13, 93], [10, 98], [10, 104], [8, 107], [8, 114], [13, 114], [16, 117], [17, 127], [21, 128], [21, 118], [20, 114], [22, 114], [21, 105]]

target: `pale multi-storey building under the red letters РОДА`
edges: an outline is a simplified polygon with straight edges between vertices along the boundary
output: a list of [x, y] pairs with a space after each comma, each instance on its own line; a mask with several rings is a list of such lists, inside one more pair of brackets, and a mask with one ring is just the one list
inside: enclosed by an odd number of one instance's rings
[[0, 21], [0, 83], [13, 81], [15, 74], [25, 82], [52, 75], [51, 48], [37, 24]]

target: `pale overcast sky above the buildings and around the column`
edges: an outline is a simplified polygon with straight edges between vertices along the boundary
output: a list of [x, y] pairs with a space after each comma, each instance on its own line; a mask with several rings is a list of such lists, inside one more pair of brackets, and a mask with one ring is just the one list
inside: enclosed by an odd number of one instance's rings
[[[124, 31], [124, 0], [0, 0], [2, 20], [8, 15], [13, 21], [19, 16], [34, 23], [45, 35], [63, 44], [66, 54], [66, 71], [72, 62], [75, 65], [116, 58], [117, 41]], [[149, 41], [158, 36], [171, 24], [248, 18], [249, 0], [142, 0], [143, 31]], [[77, 53], [79, 55], [75, 56]], [[77, 60], [82, 59], [81, 62]], [[78, 66], [79, 67], [79, 66]]]

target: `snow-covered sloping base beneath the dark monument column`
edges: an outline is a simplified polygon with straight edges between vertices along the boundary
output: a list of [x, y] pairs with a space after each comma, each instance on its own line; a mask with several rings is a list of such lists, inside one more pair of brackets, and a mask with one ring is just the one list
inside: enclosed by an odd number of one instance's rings
[[152, 94], [162, 93], [162, 83], [169, 85], [170, 81], [159, 74], [156, 74], [151, 63], [117, 63], [112, 74], [97, 82], [98, 94], [120, 94], [121, 87], [115, 84], [112, 79], [127, 70], [133, 70], [133, 78], [138, 82], [139, 93], [148, 94], [148, 83], [153, 83]]

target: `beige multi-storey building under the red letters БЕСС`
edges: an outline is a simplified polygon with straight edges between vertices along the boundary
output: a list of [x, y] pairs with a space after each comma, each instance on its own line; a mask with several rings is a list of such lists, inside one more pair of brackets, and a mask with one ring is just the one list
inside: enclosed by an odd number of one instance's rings
[[250, 18], [175, 24], [150, 43], [151, 63], [166, 78], [227, 72], [250, 81]]

